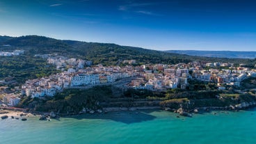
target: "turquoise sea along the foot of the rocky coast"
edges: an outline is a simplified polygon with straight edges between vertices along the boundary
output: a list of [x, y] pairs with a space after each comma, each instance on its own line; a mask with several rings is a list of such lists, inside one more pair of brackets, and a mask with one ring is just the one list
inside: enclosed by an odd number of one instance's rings
[[256, 143], [256, 109], [176, 115], [118, 111], [51, 121], [8, 118], [0, 120], [0, 143]]

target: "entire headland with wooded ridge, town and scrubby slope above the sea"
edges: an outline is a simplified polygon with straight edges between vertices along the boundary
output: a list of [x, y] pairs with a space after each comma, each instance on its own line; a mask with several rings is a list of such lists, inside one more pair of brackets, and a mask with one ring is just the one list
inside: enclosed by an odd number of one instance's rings
[[57, 115], [157, 108], [183, 115], [237, 111], [256, 102], [253, 59], [185, 56], [36, 35], [4, 37], [2, 43], [3, 108]]

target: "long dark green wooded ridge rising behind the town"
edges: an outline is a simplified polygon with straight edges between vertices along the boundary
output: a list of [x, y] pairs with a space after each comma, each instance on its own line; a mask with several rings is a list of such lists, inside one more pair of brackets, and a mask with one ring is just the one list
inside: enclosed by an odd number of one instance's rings
[[[3, 47], [10, 45], [10, 47]], [[27, 35], [21, 37], [0, 36], [0, 50], [24, 49], [26, 54], [59, 54], [73, 58], [83, 58], [93, 61], [94, 64], [103, 65], [122, 64], [124, 60], [136, 60], [138, 65], [145, 63], [189, 63], [191, 61], [209, 61], [225, 63], [250, 63], [249, 59], [233, 58], [207, 58], [202, 56], [189, 56], [166, 51], [129, 47], [111, 43], [80, 42], [75, 40], [56, 40], [45, 36]]]

